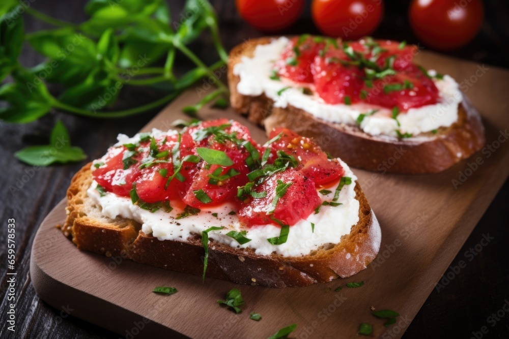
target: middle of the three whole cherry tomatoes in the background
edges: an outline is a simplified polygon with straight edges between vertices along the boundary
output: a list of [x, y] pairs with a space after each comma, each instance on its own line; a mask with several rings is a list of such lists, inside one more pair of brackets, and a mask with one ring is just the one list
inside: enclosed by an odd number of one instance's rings
[[326, 35], [349, 40], [370, 35], [383, 16], [382, 0], [313, 0], [313, 21]]

